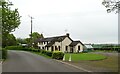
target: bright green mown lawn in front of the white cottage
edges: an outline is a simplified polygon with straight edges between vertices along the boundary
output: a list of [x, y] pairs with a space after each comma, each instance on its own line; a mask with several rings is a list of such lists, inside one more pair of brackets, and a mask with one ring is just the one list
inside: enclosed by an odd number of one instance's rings
[[101, 54], [93, 54], [93, 53], [79, 53], [79, 54], [65, 54], [65, 61], [69, 61], [71, 55], [71, 61], [80, 61], [80, 60], [103, 60], [107, 58]]

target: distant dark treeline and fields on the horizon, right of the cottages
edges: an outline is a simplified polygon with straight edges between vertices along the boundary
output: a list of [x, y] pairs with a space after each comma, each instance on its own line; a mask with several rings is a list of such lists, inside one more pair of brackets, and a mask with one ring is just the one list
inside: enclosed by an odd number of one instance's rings
[[120, 52], [119, 44], [92, 44], [94, 50], [111, 50]]

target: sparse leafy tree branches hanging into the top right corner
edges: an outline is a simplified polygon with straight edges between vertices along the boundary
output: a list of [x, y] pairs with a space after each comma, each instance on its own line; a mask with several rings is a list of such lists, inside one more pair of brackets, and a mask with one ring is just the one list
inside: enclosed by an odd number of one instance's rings
[[120, 1], [119, 0], [103, 0], [102, 4], [107, 8], [108, 13], [112, 11], [115, 11], [115, 13], [120, 12]]

